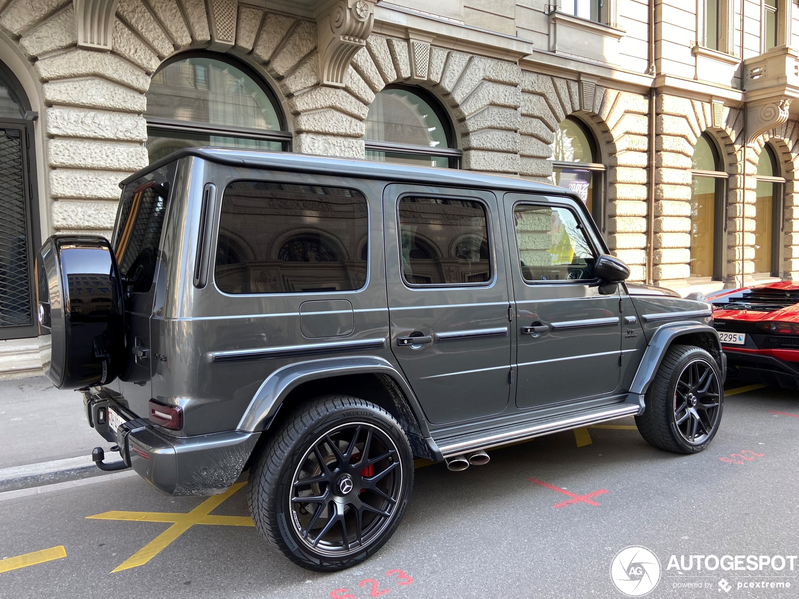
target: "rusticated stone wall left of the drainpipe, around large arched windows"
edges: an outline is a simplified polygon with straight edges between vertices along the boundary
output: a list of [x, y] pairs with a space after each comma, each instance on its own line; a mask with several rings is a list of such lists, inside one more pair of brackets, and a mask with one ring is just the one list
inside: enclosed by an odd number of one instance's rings
[[[121, 0], [113, 26], [113, 50], [96, 52], [77, 47], [68, 0], [11, 0], [0, 13], [0, 28], [42, 83], [46, 193], [58, 231], [109, 232], [118, 182], [147, 164], [143, 113], [150, 77], [166, 58], [213, 42], [202, 0]], [[638, 204], [646, 194], [646, 132], [638, 117], [646, 113], [645, 98], [598, 88], [586, 102], [577, 81], [377, 34], [356, 54], [344, 89], [324, 87], [316, 43], [315, 22], [238, 7], [228, 51], [276, 90], [294, 151], [364, 157], [368, 106], [386, 85], [402, 81], [423, 86], [447, 107], [464, 169], [543, 180], [551, 175], [547, 159], [558, 123], [578, 114], [606, 148], [611, 247], [642, 279]]]

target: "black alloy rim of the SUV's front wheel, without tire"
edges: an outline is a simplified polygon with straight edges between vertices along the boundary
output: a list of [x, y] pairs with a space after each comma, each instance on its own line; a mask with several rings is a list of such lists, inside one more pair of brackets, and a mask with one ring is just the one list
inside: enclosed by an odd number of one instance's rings
[[682, 369], [674, 387], [674, 423], [692, 445], [706, 441], [718, 425], [720, 391], [716, 371], [705, 360], [692, 360]]

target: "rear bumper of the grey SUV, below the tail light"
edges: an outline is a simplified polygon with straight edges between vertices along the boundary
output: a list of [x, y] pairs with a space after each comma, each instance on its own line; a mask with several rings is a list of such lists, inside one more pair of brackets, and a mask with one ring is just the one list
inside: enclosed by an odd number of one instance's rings
[[[260, 432], [240, 430], [173, 437], [106, 395], [87, 392], [84, 403], [89, 425], [107, 441], [116, 442], [125, 463], [168, 495], [221, 493], [239, 478], [260, 437]], [[126, 419], [117, 431], [98, 422], [98, 411], [110, 406]]]

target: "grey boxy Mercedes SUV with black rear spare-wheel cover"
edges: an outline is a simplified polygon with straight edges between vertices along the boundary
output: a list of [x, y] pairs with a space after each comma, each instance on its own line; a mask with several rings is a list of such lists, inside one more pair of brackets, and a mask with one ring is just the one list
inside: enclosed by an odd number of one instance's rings
[[464, 470], [625, 415], [683, 454], [718, 430], [710, 305], [626, 284], [566, 189], [233, 149], [121, 185], [110, 242], [39, 252], [47, 375], [165, 494], [248, 471], [258, 530], [306, 568], [388, 540], [414, 458]]

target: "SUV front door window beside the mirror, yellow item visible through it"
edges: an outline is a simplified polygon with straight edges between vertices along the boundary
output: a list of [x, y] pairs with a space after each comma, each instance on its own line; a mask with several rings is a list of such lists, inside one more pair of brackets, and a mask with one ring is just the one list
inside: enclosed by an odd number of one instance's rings
[[521, 204], [513, 212], [524, 280], [594, 278], [594, 250], [570, 210]]

